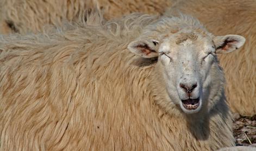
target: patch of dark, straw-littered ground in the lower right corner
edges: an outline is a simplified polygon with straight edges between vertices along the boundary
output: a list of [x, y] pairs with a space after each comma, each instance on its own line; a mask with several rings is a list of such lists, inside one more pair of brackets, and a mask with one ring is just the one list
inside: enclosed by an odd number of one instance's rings
[[233, 114], [233, 130], [236, 146], [256, 147], [256, 115]]

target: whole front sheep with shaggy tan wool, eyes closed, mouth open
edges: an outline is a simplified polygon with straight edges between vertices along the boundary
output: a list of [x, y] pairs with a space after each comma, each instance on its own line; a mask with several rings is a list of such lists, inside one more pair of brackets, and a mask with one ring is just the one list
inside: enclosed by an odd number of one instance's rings
[[234, 146], [215, 53], [240, 48], [242, 36], [145, 14], [92, 13], [47, 31], [1, 37], [1, 150]]

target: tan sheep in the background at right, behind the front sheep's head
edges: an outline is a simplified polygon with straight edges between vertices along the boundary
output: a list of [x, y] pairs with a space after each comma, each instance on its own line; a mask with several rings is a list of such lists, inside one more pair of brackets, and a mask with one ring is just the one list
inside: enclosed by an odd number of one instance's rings
[[165, 15], [182, 12], [198, 18], [211, 33], [241, 34], [249, 41], [241, 52], [220, 55], [226, 73], [226, 93], [233, 112], [256, 114], [256, 1], [180, 1]]

